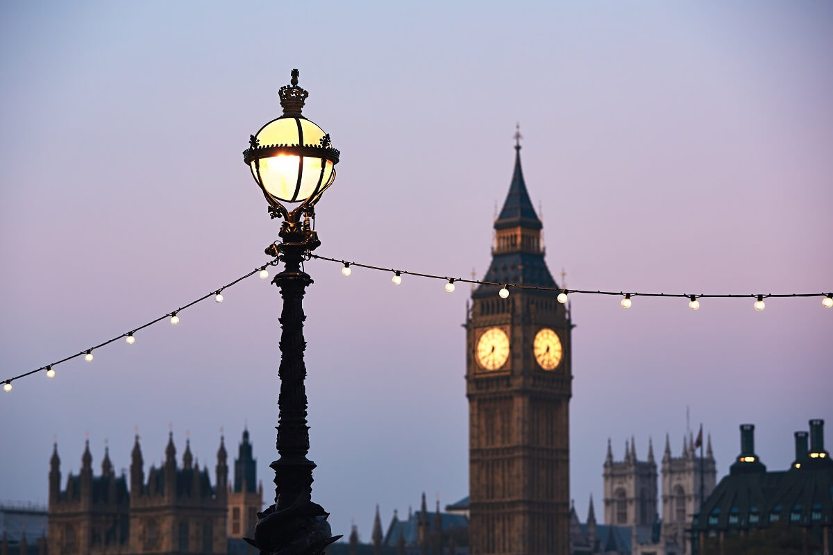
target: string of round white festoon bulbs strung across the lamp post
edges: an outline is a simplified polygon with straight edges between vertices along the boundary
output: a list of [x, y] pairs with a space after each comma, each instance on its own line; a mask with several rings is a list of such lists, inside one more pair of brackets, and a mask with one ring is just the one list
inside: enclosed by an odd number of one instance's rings
[[[821, 305], [823, 307], [825, 307], [826, 309], [833, 308], [833, 292], [829, 292], [829, 293], [750, 293], [750, 294], [707, 294], [707, 293], [699, 293], [699, 294], [689, 294], [689, 293], [639, 293], [639, 292], [636, 292], [636, 291], [633, 291], [633, 292], [629, 292], [629, 291], [601, 291], [601, 290], [595, 290], [594, 291], [594, 290], [581, 290], [581, 289], [566, 289], [566, 288], [559, 288], [559, 287], [546, 287], [546, 286], [543, 286], [543, 285], [523, 285], [523, 284], [515, 284], [515, 283], [499, 283], [499, 282], [494, 282], [494, 281], [468, 280], [466, 278], [452, 278], [452, 277], [449, 277], [447, 275], [433, 275], [433, 274], [425, 274], [425, 273], [422, 273], [422, 272], [413, 272], [413, 271], [408, 271], [408, 270], [397, 270], [396, 268], [386, 268], [386, 267], [382, 267], [382, 266], [362, 264], [361, 262], [352, 262], [352, 261], [348, 261], [348, 260], [340, 260], [340, 259], [337, 259], [337, 258], [330, 258], [330, 257], [327, 257], [327, 256], [313, 255], [312, 253], [309, 253], [307, 255], [307, 260], [308, 259], [326, 260], [326, 261], [329, 261], [329, 262], [335, 262], [337, 264], [340, 264], [340, 265], [342, 265], [342, 275], [344, 275], [344, 276], [351, 275], [353, 267], [365, 268], [367, 270], [377, 270], [377, 271], [382, 271], [382, 272], [388, 272], [388, 273], [393, 274], [392, 277], [391, 277], [391, 281], [392, 281], [393, 285], [402, 285], [402, 276], [403, 275], [413, 275], [413, 276], [416, 276], [416, 277], [428, 278], [428, 279], [431, 279], [431, 280], [442, 280], [442, 281], [445, 282], [445, 289], [446, 289], [447, 293], [453, 293], [454, 292], [454, 290], [455, 290], [455, 285], [454, 284], [455, 283], [468, 283], [468, 284], [472, 284], [472, 285], [494, 285], [494, 286], [500, 288], [497, 291], [497, 295], [500, 296], [501, 299], [508, 298], [509, 297], [509, 291], [511, 289], [552, 291], [552, 292], [557, 291], [558, 296], [556, 298], [557, 298], [558, 302], [560, 302], [562, 305], [565, 304], [568, 300], [570, 300], [569, 295], [581, 294], [581, 295], [614, 295], [614, 296], [620, 296], [621, 297], [620, 304], [621, 304], [622, 308], [625, 308], [625, 309], [631, 308], [631, 305], [633, 304], [632, 299], [634, 297], [637, 297], [637, 296], [639, 296], [639, 297], [669, 297], [669, 298], [688, 299], [688, 307], [691, 310], [699, 310], [700, 309], [700, 299], [705, 299], [705, 298], [754, 299], [755, 301], [753, 303], [753, 307], [755, 308], [755, 310], [760, 312], [761, 310], [764, 310], [764, 308], [766, 308], [766, 303], [764, 302], [764, 299], [768, 299], [768, 298], [822, 297]], [[101, 344], [97, 344], [97, 345], [95, 345], [93, 347], [90, 347], [88, 349], [82, 349], [81, 351], [77, 352], [76, 354], [72, 354], [70, 356], [67, 356], [64, 359], [57, 360], [57, 361], [55, 361], [51, 364], [41, 366], [40, 368], [33, 369], [29, 372], [26, 372], [25, 374], [20, 374], [18, 376], [14, 376], [13, 378], [0, 380], [0, 382], [2, 382], [2, 384], [3, 384], [3, 389], [6, 392], [10, 392], [10, 391], [12, 391], [12, 382], [14, 380], [25, 378], [27, 376], [30, 376], [32, 374], [37, 374], [38, 372], [42, 372], [44, 370], [46, 371], [47, 378], [54, 378], [55, 377], [54, 367], [57, 366], [57, 364], [62, 364], [64, 362], [67, 362], [67, 360], [76, 359], [77, 357], [80, 357], [80, 356], [84, 357], [84, 360], [86, 360], [87, 362], [92, 362], [92, 359], [93, 359], [92, 352], [94, 350], [101, 349], [105, 345], [111, 344], [114, 341], [117, 341], [118, 339], [124, 338], [125, 341], [127, 342], [127, 344], [134, 344], [136, 342], [135, 334], [138, 331], [144, 330], [148, 326], [157, 324], [158, 322], [161, 322], [162, 320], [169, 319], [169, 321], [172, 325], [177, 325], [177, 324], [179, 324], [179, 313], [182, 310], [185, 310], [185, 309], [187, 309], [187, 308], [189, 308], [193, 305], [196, 305], [197, 303], [202, 302], [203, 300], [207, 300], [211, 297], [214, 298], [215, 302], [222, 303], [222, 301], [223, 301], [222, 291], [223, 290], [226, 290], [227, 288], [231, 287], [232, 285], [236, 285], [238, 282], [240, 282], [242, 280], [245, 280], [247, 277], [255, 275], [255, 274], [257, 274], [262, 280], [265, 280], [269, 277], [269, 272], [267, 270], [267, 267], [270, 266], [270, 265], [277, 265], [277, 264], [278, 264], [277, 259], [272, 260], [270, 262], [267, 262], [266, 264], [264, 264], [262, 266], [259, 266], [259, 267], [255, 268], [254, 270], [248, 272], [246, 275], [240, 276], [239, 278], [237, 278], [237, 280], [233, 280], [231, 283], [223, 285], [222, 287], [220, 287], [216, 290], [212, 290], [211, 293], [208, 293], [207, 295], [202, 295], [202, 297], [200, 297], [197, 300], [192, 300], [190, 303], [187, 303], [187, 305], [180, 306], [179, 308], [177, 308], [177, 310], [171, 310], [170, 312], [167, 312], [165, 315], [159, 316], [157, 319], [151, 320], [150, 322], [147, 322], [147, 324], [137, 326], [136, 328], [133, 328], [132, 330], [127, 331], [123, 334], [119, 334], [119, 335], [113, 337], [112, 339], [107, 339], [107, 341], [104, 341]]]

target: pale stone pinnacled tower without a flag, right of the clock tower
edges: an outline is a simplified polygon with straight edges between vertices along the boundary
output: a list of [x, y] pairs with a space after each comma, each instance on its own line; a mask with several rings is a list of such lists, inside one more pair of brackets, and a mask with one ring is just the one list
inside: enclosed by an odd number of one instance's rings
[[625, 442], [625, 458], [616, 461], [610, 439], [604, 464], [605, 523], [616, 526], [650, 526], [657, 518], [656, 461], [648, 440], [648, 457], [636, 457], [636, 441]]

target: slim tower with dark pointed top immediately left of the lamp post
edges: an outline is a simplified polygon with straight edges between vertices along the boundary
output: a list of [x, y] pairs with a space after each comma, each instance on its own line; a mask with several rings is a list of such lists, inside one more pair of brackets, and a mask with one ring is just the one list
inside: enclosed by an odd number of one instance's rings
[[263, 510], [263, 485], [256, 483], [257, 461], [252, 457], [249, 431], [243, 438], [234, 460], [234, 484], [228, 489], [227, 535], [229, 538], [254, 538], [257, 513]]

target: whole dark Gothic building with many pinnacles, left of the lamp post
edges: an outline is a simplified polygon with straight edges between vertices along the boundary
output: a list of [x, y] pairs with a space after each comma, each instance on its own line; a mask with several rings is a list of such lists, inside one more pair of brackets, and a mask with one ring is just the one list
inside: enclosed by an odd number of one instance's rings
[[[177, 463], [172, 433], [164, 462], [159, 468], [151, 465], [147, 476], [138, 436], [132, 448], [129, 478], [125, 473], [117, 476], [113, 472], [107, 448], [101, 474], [95, 476], [88, 441], [81, 471], [67, 476], [65, 489], [61, 489], [60, 464], [55, 444], [47, 507], [47, 552], [51, 555], [247, 553], [239, 538], [249, 532], [250, 509], [257, 506], [257, 512], [262, 507], [262, 501], [258, 502], [262, 488], [252, 492], [247, 486], [255, 472], [248, 432], [243, 434], [235, 468], [235, 480], [239, 478], [241, 488], [237, 483], [231, 488], [228, 483], [222, 437], [214, 467], [215, 486], [207, 465], [201, 468], [194, 460], [190, 440], [186, 440], [182, 463]], [[227, 529], [234, 529], [231, 516], [237, 513], [237, 527], [242, 533], [235, 537]]]

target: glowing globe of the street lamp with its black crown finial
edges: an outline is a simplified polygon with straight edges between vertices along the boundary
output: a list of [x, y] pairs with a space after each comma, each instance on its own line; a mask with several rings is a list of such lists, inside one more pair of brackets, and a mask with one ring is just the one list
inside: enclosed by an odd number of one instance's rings
[[315, 204], [335, 181], [340, 154], [330, 136], [302, 116], [309, 93], [298, 87], [298, 71], [292, 70], [290, 85], [281, 87], [283, 115], [269, 121], [249, 139], [243, 161], [252, 171], [270, 205]]

